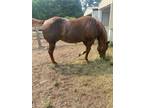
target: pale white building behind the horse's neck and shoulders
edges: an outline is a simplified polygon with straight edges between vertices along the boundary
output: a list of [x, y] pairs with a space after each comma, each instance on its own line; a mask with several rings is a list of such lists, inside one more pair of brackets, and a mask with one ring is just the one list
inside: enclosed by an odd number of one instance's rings
[[84, 16], [92, 16], [100, 20], [108, 33], [108, 40], [113, 41], [113, 2], [112, 0], [101, 0], [98, 7], [88, 7]]

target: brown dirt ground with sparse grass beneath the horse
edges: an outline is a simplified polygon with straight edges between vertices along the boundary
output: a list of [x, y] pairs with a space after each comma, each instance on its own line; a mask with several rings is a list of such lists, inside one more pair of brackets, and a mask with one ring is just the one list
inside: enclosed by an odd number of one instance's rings
[[112, 47], [107, 51], [109, 60], [104, 61], [94, 44], [87, 64], [84, 56], [78, 57], [85, 50], [82, 43], [59, 41], [54, 52], [59, 66], [55, 67], [45, 40], [42, 45], [38, 49], [33, 40], [32, 108], [112, 108]]

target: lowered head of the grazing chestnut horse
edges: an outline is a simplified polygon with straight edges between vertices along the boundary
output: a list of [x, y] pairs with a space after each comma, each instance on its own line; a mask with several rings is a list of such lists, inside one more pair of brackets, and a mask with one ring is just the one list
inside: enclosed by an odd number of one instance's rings
[[100, 58], [105, 58], [106, 50], [108, 49], [108, 44], [109, 44], [109, 41], [101, 45], [98, 45], [97, 50], [99, 52]]

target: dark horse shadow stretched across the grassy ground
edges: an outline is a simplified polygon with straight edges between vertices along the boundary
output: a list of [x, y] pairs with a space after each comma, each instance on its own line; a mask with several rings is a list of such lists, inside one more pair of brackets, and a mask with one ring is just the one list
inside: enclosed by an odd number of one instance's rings
[[69, 64], [59, 64], [58, 66], [48, 65], [49, 68], [64, 75], [101, 75], [112, 74], [112, 57], [109, 56], [107, 60], [96, 59], [90, 61], [88, 64], [85, 60], [78, 60]]

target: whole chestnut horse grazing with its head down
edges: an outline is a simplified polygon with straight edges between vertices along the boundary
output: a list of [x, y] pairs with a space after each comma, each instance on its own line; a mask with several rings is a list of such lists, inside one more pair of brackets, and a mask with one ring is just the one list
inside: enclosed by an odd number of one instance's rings
[[39, 20], [43, 23], [41, 30], [45, 40], [49, 43], [48, 53], [51, 61], [57, 64], [53, 52], [57, 41], [62, 40], [68, 43], [83, 42], [86, 50], [85, 60], [88, 62], [88, 54], [95, 39], [98, 40], [97, 50], [101, 58], [105, 58], [108, 48], [107, 33], [103, 24], [90, 16], [83, 16], [77, 19], [68, 20], [61, 17], [52, 17], [48, 20]]

